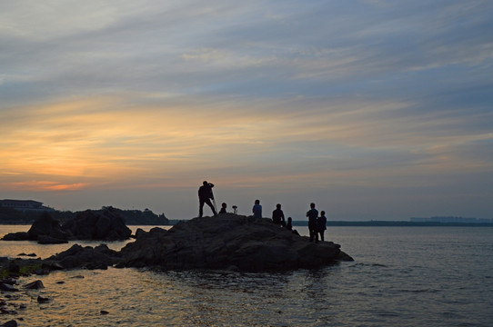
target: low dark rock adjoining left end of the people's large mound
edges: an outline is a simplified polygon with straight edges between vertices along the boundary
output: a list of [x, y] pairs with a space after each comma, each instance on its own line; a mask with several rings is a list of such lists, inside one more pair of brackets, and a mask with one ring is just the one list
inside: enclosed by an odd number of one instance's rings
[[113, 265], [118, 260], [119, 253], [110, 250], [106, 244], [98, 245], [95, 248], [75, 244], [65, 252], [47, 258], [44, 263], [57, 264], [64, 269], [107, 269], [108, 265]]

